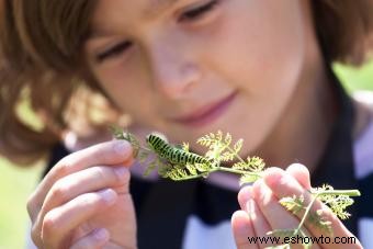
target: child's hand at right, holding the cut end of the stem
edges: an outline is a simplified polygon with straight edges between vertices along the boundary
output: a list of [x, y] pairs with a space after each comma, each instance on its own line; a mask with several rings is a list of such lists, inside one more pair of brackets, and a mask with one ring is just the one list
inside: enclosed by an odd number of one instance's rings
[[[286, 211], [279, 203], [279, 200], [285, 196], [301, 196], [308, 204], [312, 199], [309, 190], [309, 172], [303, 165], [291, 165], [286, 170], [280, 168], [269, 168], [265, 170], [263, 179], [258, 180], [252, 186], [245, 186], [238, 193], [238, 202], [241, 210], [236, 211], [231, 216], [231, 227], [238, 249], [246, 248], [265, 248], [274, 246], [270, 239], [260, 242], [259, 238], [269, 238], [268, 231], [274, 229], [294, 229], [298, 226], [304, 212], [294, 215]], [[306, 236], [319, 239], [321, 237], [330, 238], [330, 244], [321, 241], [313, 244], [312, 248], [338, 248], [353, 249], [362, 248], [360, 241], [344, 227], [341, 220], [331, 211], [318, 200], [313, 204], [312, 212], [323, 210], [321, 216], [331, 222], [332, 235], [316, 227], [308, 220], [305, 222], [303, 230]], [[355, 238], [354, 244], [337, 244], [339, 238]], [[335, 240], [335, 238], [337, 240]], [[250, 242], [251, 239], [251, 242]], [[257, 239], [257, 242], [252, 242]], [[328, 240], [327, 240], [328, 241]], [[351, 241], [351, 239], [350, 239]], [[280, 240], [280, 244], [283, 241]], [[302, 245], [291, 244], [292, 248], [302, 248]]]

